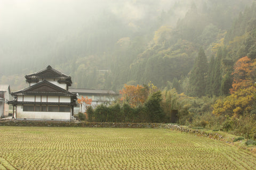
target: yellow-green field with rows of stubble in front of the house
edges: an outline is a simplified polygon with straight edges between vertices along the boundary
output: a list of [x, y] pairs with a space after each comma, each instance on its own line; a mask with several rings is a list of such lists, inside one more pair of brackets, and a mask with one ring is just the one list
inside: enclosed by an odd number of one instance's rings
[[0, 126], [0, 169], [255, 169], [256, 156], [166, 129]]

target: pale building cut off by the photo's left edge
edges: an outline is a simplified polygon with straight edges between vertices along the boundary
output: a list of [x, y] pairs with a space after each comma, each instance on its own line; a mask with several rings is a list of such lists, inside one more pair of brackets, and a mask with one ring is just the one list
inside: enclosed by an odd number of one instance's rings
[[0, 118], [7, 117], [9, 115], [9, 97], [11, 94], [10, 86], [7, 84], [0, 84]]

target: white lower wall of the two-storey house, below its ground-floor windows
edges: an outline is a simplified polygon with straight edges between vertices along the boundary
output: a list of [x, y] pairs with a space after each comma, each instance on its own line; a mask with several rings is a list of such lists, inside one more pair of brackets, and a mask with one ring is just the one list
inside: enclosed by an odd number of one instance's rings
[[17, 106], [17, 119], [70, 120], [70, 117], [70, 112], [23, 112], [21, 106]]

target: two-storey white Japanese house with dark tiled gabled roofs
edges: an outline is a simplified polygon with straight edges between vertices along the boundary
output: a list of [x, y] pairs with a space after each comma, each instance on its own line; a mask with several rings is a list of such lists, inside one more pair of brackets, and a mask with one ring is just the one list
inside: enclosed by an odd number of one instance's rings
[[17, 120], [72, 120], [77, 97], [68, 91], [71, 77], [49, 65], [25, 78], [29, 87], [12, 92], [14, 100], [9, 101], [17, 107], [13, 112]]

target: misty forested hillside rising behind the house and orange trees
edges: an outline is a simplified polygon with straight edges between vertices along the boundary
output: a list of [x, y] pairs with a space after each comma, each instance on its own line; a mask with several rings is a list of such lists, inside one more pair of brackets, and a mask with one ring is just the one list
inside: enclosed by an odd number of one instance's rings
[[[0, 83], [14, 90], [26, 87], [26, 74], [51, 65], [71, 76], [73, 88], [117, 91], [151, 81], [191, 96], [225, 95], [234, 63], [256, 54], [252, 0], [0, 4]], [[226, 78], [215, 87], [206, 84], [199, 95], [192, 81], [199, 79], [195, 67], [203, 65], [198, 53], [207, 58], [205, 74], [218, 67], [215, 60]], [[217, 79], [210, 75], [211, 84]], [[221, 83], [226, 86], [214, 92]]]

